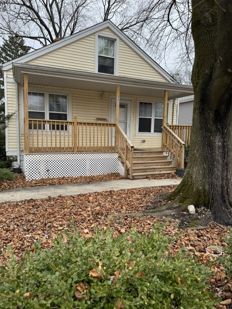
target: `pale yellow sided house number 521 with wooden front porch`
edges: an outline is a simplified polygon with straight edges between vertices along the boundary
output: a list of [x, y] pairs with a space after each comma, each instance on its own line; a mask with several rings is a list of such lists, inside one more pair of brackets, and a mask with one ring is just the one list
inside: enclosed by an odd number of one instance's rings
[[183, 167], [192, 95], [109, 20], [4, 63], [6, 154], [26, 179]]

